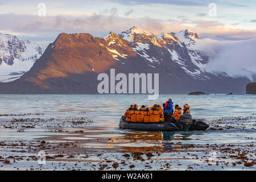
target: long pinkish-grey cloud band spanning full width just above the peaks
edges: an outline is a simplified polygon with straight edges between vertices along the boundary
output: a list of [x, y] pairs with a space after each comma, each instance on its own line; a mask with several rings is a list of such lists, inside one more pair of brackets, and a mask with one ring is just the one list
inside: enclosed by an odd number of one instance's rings
[[[119, 33], [130, 27], [138, 26], [154, 34], [160, 32], [177, 32], [189, 29], [199, 34], [199, 38], [243, 40], [256, 38], [256, 30], [227, 28], [225, 24], [217, 21], [181, 19], [154, 19], [150, 17], [121, 17], [116, 8], [102, 11], [98, 14], [85, 15], [59, 15], [39, 17], [38, 15], [0, 14], [0, 30], [3, 32], [16, 32], [14, 35], [38, 41], [49, 40], [53, 42], [55, 36], [61, 32], [82, 33], [93, 36], [104, 36], [109, 31]], [[19, 36], [20, 37], [20, 36]], [[30, 39], [28, 39], [30, 40]]]

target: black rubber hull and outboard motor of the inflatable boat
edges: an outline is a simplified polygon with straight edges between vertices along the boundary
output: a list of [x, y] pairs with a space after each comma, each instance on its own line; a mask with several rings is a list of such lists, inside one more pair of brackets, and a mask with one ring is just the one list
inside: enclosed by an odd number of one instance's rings
[[[179, 122], [183, 125], [183, 131], [206, 130], [209, 125], [201, 120], [192, 119], [190, 114], [183, 114]], [[144, 123], [144, 122], [127, 122], [120, 118], [119, 127], [121, 129], [141, 130], [141, 131], [179, 131], [179, 128], [171, 122], [162, 123]]]

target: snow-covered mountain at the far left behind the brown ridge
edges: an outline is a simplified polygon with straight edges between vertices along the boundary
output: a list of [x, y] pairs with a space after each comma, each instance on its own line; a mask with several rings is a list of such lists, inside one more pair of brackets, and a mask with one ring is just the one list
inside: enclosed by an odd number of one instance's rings
[[43, 52], [44, 48], [37, 43], [0, 33], [0, 81], [18, 79], [30, 70]]

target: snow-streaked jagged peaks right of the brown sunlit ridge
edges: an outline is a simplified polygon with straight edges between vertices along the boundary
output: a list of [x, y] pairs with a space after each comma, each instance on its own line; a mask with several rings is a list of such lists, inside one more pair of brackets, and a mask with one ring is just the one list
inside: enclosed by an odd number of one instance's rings
[[188, 75], [201, 80], [209, 79], [203, 69], [205, 61], [200, 56], [200, 51], [194, 48], [199, 40], [194, 32], [184, 30], [154, 35], [141, 28], [132, 27], [118, 35], [127, 40], [134, 51], [150, 63], [161, 65], [163, 62], [173, 61], [176, 64], [171, 64], [182, 68]]

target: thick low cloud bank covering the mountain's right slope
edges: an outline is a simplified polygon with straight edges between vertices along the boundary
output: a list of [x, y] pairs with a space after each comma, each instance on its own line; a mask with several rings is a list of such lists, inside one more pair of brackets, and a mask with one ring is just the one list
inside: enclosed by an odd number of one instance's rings
[[209, 56], [205, 71], [226, 73], [230, 77], [247, 77], [254, 81], [256, 75], [256, 39], [251, 40], [213, 40], [203, 39], [196, 48]]

